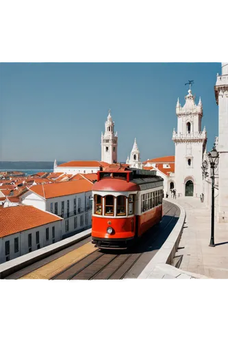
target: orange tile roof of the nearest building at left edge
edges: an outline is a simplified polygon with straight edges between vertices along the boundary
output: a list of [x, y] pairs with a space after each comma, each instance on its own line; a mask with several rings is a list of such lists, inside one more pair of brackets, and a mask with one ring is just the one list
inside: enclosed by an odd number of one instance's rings
[[31, 205], [18, 205], [1, 210], [0, 237], [26, 231], [27, 229], [62, 220]]

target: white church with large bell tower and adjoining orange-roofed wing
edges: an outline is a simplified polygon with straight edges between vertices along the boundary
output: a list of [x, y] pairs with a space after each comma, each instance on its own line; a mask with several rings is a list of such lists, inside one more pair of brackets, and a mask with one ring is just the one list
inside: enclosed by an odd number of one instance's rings
[[177, 131], [173, 129], [175, 156], [147, 160], [144, 167], [152, 167], [164, 178], [164, 192], [171, 189], [177, 196], [199, 197], [203, 192], [202, 162], [207, 144], [207, 132], [201, 130], [203, 104], [199, 98], [198, 105], [188, 90], [186, 103], [181, 107], [179, 98], [176, 105]]

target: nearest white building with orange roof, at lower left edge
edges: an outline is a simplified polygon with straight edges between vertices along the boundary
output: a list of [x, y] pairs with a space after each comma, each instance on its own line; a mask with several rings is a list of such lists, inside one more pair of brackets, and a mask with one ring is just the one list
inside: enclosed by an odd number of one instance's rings
[[0, 263], [60, 241], [62, 220], [27, 205], [1, 209]]

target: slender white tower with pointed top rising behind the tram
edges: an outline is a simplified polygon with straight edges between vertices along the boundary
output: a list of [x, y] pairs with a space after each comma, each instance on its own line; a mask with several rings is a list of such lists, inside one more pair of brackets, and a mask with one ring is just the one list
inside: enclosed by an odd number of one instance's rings
[[114, 132], [114, 121], [112, 121], [111, 111], [108, 111], [105, 122], [105, 133], [101, 133], [101, 161], [105, 163], [117, 163], [117, 132]]

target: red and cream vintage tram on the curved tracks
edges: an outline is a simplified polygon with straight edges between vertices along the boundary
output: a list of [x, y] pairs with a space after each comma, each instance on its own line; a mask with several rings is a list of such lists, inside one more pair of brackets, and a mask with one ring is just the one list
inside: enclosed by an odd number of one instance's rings
[[156, 171], [115, 166], [97, 172], [92, 188], [92, 243], [127, 248], [162, 220], [162, 177]]

